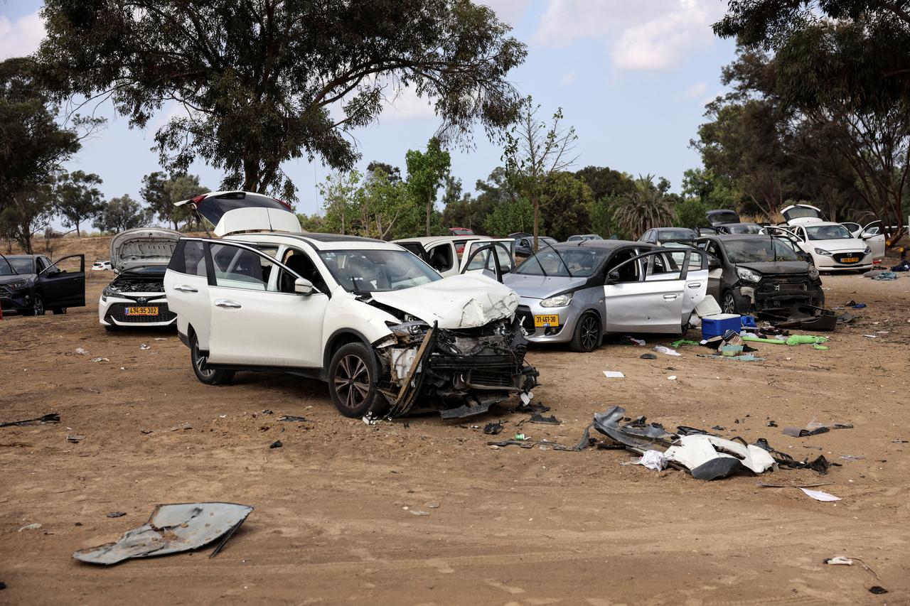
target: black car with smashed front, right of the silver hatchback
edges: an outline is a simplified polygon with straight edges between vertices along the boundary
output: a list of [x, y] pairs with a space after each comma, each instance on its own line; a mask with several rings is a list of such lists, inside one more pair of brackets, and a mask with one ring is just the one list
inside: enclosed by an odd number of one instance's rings
[[784, 238], [757, 234], [698, 238], [709, 255], [708, 294], [724, 313], [824, 307], [818, 269]]

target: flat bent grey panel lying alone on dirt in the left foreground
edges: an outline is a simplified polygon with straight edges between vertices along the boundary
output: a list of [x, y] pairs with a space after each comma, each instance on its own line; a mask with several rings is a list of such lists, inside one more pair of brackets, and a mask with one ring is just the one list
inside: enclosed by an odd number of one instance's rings
[[177, 503], [157, 505], [148, 521], [127, 530], [119, 540], [77, 550], [73, 557], [92, 564], [116, 564], [195, 550], [221, 538], [208, 556], [215, 557], [253, 510], [238, 503]]

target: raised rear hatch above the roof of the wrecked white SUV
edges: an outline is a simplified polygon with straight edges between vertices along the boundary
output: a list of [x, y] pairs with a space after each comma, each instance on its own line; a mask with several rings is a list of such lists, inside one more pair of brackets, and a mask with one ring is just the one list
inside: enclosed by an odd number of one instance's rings
[[274, 197], [246, 191], [203, 194], [174, 206], [189, 207], [206, 219], [218, 237], [250, 231], [303, 232], [290, 205]]

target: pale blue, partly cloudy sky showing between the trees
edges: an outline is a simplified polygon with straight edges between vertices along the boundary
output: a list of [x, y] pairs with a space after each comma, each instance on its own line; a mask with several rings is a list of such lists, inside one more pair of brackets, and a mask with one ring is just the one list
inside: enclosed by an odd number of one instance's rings
[[[682, 173], [700, 167], [689, 141], [704, 122], [704, 105], [722, 93], [721, 67], [734, 56], [732, 40], [713, 35], [721, 0], [475, 0], [490, 5], [528, 45], [525, 63], [509, 79], [541, 105], [541, 116], [561, 107], [574, 126], [579, 158], [574, 169], [611, 167], [637, 177], [667, 177], [679, 191]], [[0, 59], [35, 51], [45, 35], [36, 0], [0, 0]], [[158, 127], [176, 115], [166, 106], [145, 130], [130, 129], [109, 104], [99, 106], [105, 128], [66, 163], [104, 179], [106, 197], [141, 199], [142, 177], [159, 170], [152, 151]], [[440, 120], [427, 101], [404, 91], [378, 123], [352, 133], [364, 170], [371, 160], [404, 169], [405, 153], [427, 145]], [[501, 165], [502, 150], [478, 128], [470, 149], [453, 147], [451, 173], [465, 191]], [[329, 169], [319, 160], [290, 161], [285, 172], [298, 187], [298, 212], [318, 212], [318, 184]], [[202, 162], [190, 172], [217, 189], [222, 174]], [[441, 192], [440, 192], [441, 195]]]

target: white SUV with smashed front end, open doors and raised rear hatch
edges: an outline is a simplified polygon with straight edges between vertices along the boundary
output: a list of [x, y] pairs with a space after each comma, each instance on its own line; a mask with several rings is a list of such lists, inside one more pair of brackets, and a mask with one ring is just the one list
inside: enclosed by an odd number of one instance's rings
[[200, 381], [238, 370], [319, 378], [347, 417], [464, 417], [534, 385], [518, 296], [496, 280], [442, 278], [381, 240], [300, 233], [272, 198], [191, 202], [222, 239], [182, 238], [165, 288]]

